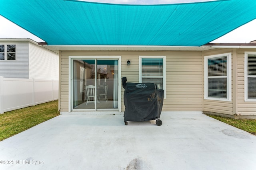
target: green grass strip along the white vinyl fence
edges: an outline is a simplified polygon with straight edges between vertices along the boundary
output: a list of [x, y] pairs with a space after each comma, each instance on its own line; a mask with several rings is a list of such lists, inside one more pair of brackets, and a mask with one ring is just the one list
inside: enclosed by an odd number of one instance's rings
[[58, 100], [0, 114], [0, 141], [58, 115]]

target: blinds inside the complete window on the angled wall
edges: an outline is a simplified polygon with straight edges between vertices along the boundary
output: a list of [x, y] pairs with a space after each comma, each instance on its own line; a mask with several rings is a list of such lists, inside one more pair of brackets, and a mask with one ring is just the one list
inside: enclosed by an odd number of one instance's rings
[[227, 98], [227, 57], [208, 59], [208, 97]]

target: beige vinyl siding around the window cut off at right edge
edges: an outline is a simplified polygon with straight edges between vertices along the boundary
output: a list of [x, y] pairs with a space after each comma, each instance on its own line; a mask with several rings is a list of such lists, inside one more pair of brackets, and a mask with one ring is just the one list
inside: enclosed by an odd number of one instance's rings
[[238, 50], [238, 66], [237, 66], [237, 115], [256, 115], [256, 102], [244, 102], [244, 52], [256, 50], [252, 49], [239, 49]]

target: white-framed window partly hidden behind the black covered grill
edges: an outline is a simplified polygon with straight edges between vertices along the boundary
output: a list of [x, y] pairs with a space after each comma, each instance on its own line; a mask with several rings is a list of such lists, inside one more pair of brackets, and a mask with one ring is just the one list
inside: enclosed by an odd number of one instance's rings
[[166, 64], [165, 56], [140, 56], [139, 81], [160, 84], [166, 98]]

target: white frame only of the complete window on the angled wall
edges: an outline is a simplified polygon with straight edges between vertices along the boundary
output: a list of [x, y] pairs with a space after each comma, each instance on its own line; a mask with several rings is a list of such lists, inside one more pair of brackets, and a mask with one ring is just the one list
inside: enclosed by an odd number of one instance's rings
[[[216, 58], [216, 57], [227, 57], [227, 98], [212, 98], [208, 97], [208, 59]], [[204, 56], [204, 99], [205, 100], [218, 100], [218, 101], [232, 101], [232, 82], [231, 82], [231, 53], [224, 53], [224, 54], [218, 54], [218, 55], [209, 55]]]

